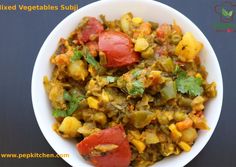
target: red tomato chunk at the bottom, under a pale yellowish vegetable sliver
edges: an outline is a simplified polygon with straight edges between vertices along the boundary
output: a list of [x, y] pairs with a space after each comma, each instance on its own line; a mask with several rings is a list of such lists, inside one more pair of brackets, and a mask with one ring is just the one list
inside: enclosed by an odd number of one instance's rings
[[[101, 144], [115, 144], [118, 147], [104, 155], [93, 155], [94, 148]], [[129, 142], [121, 125], [86, 137], [77, 144], [77, 149], [96, 167], [128, 167], [131, 160]]]

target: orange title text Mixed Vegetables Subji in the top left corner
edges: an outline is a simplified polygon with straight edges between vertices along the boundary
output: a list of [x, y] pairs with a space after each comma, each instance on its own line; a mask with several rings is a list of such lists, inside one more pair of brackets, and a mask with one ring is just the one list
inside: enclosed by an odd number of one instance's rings
[[78, 4], [73, 5], [51, 5], [51, 4], [43, 4], [43, 5], [23, 5], [23, 4], [13, 4], [13, 5], [5, 5], [0, 4], [0, 12], [1, 11], [76, 11], [79, 9]]

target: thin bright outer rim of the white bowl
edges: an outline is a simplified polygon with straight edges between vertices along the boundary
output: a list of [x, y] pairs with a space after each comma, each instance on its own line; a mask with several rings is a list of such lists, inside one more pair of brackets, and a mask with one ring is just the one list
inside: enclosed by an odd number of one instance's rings
[[[122, 0], [113, 0], [113, 2], [116, 2], [116, 1], [119, 1], [121, 2]], [[138, 1], [142, 1], [142, 0], [123, 0], [123, 1], [132, 1], [132, 2], [138, 2]], [[211, 131], [207, 132], [207, 133], [210, 133], [208, 135], [208, 138], [207, 140], [201, 145], [201, 147], [199, 147], [199, 149], [197, 151], [195, 151], [191, 157], [189, 157], [187, 160], [184, 160], [184, 161], [181, 161], [179, 162], [178, 165], [180, 166], [185, 166], [186, 164], [188, 164], [190, 161], [192, 161], [201, 151], [202, 149], [206, 146], [206, 144], [209, 142], [212, 134], [214, 133], [215, 131], [215, 128], [219, 122], [219, 118], [220, 118], [220, 114], [221, 114], [221, 110], [222, 110], [222, 103], [223, 103], [223, 79], [222, 79], [222, 73], [221, 73], [221, 68], [220, 68], [220, 64], [219, 64], [219, 61], [217, 59], [217, 56], [214, 52], [214, 49], [213, 47], [211, 46], [210, 42], [208, 41], [208, 39], [206, 38], [206, 36], [204, 35], [204, 33], [189, 19], [187, 18], [184, 14], [182, 14], [181, 12], [179, 12], [178, 10], [172, 8], [171, 6], [168, 6], [162, 2], [159, 2], [159, 1], [154, 1], [154, 0], [145, 0], [146, 3], [155, 3], [155, 4], [158, 4], [160, 5], [161, 7], [163, 8], [167, 8], [167, 10], [170, 10], [171, 12], [174, 12], [176, 14], [178, 14], [180, 17], [182, 17], [186, 22], [187, 24], [191, 24], [197, 31], [198, 33], [202, 34], [202, 37], [203, 39], [207, 42], [207, 45], [210, 46], [210, 49], [212, 51], [212, 54], [211, 56], [214, 56], [216, 58], [216, 63], [217, 63], [217, 66], [219, 67], [219, 77], [220, 77], [220, 95], [218, 94], [217, 96], [220, 96], [220, 104], [218, 104], [218, 108], [219, 108], [219, 113], [218, 113], [218, 117], [217, 119], [215, 120], [215, 124], [213, 125], [213, 127], [211, 126]], [[42, 128], [41, 124], [39, 123], [39, 116], [38, 116], [38, 113], [36, 112], [37, 108], [35, 107], [36, 105], [36, 99], [35, 99], [35, 96], [34, 96], [34, 80], [35, 80], [35, 67], [36, 65], [38, 64], [39, 62], [39, 55], [41, 55], [42, 51], [44, 50], [44, 48], [46, 47], [46, 45], [49, 43], [50, 39], [52, 38], [52, 36], [57, 32], [57, 29], [59, 29], [59, 27], [61, 26], [61, 24], [63, 24], [64, 22], [66, 22], [66, 20], [69, 20], [70, 18], [73, 18], [74, 16], [76, 16], [77, 12], [81, 12], [81, 11], [84, 11], [86, 10], [87, 8], [92, 8], [92, 7], [96, 7], [96, 5], [102, 5], [102, 3], [113, 3], [111, 2], [110, 0], [102, 0], [102, 1], [95, 1], [93, 3], [90, 3], [86, 6], [83, 6], [82, 8], [78, 9], [77, 11], [69, 14], [68, 16], [66, 16], [62, 21], [60, 21], [57, 26], [50, 32], [50, 34], [47, 36], [46, 40], [43, 42], [43, 45], [41, 46], [38, 54], [37, 54], [37, 58], [35, 60], [35, 63], [34, 63], [34, 67], [33, 67], [33, 73], [32, 73], [32, 80], [31, 80], [31, 99], [32, 99], [32, 105], [33, 105], [33, 109], [34, 109], [34, 114], [35, 114], [35, 117], [36, 117], [36, 120], [37, 120], [37, 123], [38, 123], [38, 126], [41, 130], [41, 132], [43, 133], [43, 136], [45, 137], [45, 139], [47, 140], [47, 142], [49, 143], [49, 145], [53, 148], [53, 150], [55, 152], [58, 153], [57, 149], [54, 147], [54, 145], [51, 143], [51, 141], [49, 140], [49, 137], [47, 136], [47, 133], [44, 131], [44, 129]], [[218, 91], [218, 90], [217, 90]], [[62, 157], [62, 159], [64, 159], [64, 161], [66, 161], [68, 164], [70, 164], [71, 166], [73, 166], [74, 164], [68, 160], [67, 158], [65, 157]]]

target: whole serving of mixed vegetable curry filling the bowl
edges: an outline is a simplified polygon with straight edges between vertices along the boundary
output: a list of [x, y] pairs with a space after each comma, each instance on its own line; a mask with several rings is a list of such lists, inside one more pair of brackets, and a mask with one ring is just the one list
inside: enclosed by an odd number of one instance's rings
[[175, 22], [100, 20], [84, 17], [50, 59], [54, 130], [97, 167], [145, 167], [190, 151], [216, 96], [202, 43]]

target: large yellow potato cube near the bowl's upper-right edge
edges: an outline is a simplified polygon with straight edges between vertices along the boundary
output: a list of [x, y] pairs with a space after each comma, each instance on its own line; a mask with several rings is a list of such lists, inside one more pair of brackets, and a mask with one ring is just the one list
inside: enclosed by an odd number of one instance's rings
[[175, 54], [183, 62], [193, 62], [202, 47], [202, 43], [197, 41], [192, 33], [186, 32], [183, 39], [176, 46]]

